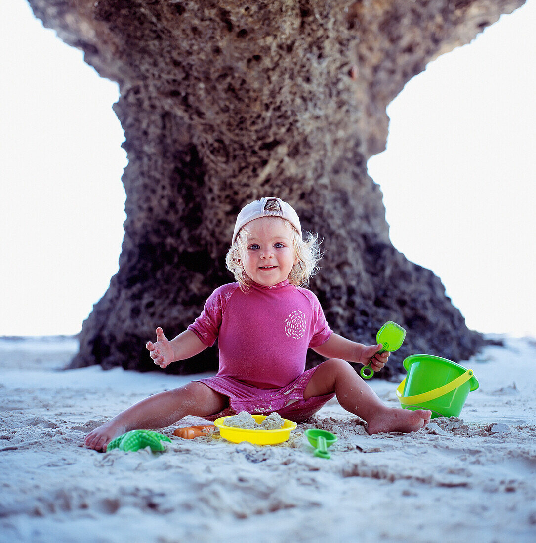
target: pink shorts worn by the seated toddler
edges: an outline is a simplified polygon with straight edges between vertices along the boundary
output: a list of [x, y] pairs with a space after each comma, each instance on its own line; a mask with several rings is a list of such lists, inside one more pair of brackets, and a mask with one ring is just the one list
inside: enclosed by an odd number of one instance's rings
[[303, 391], [306, 389], [316, 368], [304, 372], [296, 380], [283, 388], [258, 388], [251, 384], [243, 383], [233, 377], [216, 375], [198, 379], [200, 383], [219, 394], [229, 397], [229, 407], [220, 413], [204, 416], [204, 419], [216, 420], [220, 416], [229, 416], [241, 411], [247, 411], [253, 415], [268, 415], [277, 411], [284, 419], [303, 422], [314, 415], [335, 394], [325, 396], [313, 396], [303, 399]]

